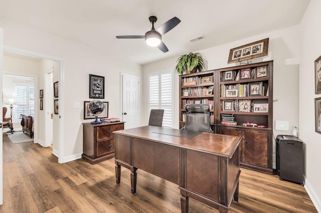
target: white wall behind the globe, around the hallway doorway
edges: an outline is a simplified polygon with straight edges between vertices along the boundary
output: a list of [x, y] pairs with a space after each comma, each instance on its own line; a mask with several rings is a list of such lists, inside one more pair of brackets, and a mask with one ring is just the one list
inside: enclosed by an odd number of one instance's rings
[[[65, 126], [64, 158], [79, 158], [82, 153], [83, 107], [73, 102], [89, 99], [89, 73], [105, 76], [105, 99], [109, 115], [120, 116], [120, 72], [140, 77], [140, 65], [114, 58], [108, 50], [100, 52], [56, 35], [0, 17], [4, 28], [4, 44], [64, 59]], [[62, 161], [65, 161], [64, 159]]]

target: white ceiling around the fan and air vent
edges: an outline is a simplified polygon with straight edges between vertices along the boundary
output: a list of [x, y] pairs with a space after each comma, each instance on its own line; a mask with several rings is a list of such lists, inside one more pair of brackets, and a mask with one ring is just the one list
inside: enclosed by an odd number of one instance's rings
[[[139, 64], [296, 25], [309, 0], [0, 0], [0, 15]], [[181, 19], [163, 35], [169, 51], [148, 46], [150, 15], [155, 28]], [[205, 39], [190, 40], [204, 35]]]

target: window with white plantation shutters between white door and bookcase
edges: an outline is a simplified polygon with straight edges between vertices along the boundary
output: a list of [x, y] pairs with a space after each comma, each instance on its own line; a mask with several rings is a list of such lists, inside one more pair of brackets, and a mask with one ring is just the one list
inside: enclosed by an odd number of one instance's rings
[[163, 126], [174, 126], [173, 78], [174, 70], [164, 70], [148, 74], [148, 111], [164, 109]]

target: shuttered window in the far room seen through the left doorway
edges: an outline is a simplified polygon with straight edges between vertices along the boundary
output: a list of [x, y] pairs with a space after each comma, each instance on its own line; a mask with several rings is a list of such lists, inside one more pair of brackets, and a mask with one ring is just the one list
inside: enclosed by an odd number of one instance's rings
[[21, 114], [35, 115], [35, 88], [27, 84], [15, 84], [14, 121], [20, 122]]

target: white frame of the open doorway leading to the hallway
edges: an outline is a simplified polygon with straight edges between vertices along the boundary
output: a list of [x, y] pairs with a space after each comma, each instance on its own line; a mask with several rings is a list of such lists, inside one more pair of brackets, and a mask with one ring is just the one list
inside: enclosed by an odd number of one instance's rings
[[[39, 57], [39, 58], [43, 58], [43, 59], [48, 59], [48, 60], [55, 60], [59, 63], [59, 120], [58, 120], [58, 153], [55, 153], [55, 151], [53, 150], [53, 154], [56, 155], [58, 157], [58, 163], [64, 163], [64, 144], [65, 144], [65, 122], [64, 122], [64, 115], [65, 115], [65, 111], [64, 111], [64, 106], [65, 105], [65, 88], [64, 88], [64, 59], [60, 58], [60, 57], [56, 57], [56, 56], [52, 56], [52, 55], [47, 55], [47, 54], [43, 54], [40, 52], [34, 52], [34, 51], [30, 51], [27, 49], [22, 49], [22, 48], [17, 48], [17, 47], [13, 47], [13, 46], [9, 46], [9, 45], [4, 45], [3, 48], [4, 51], [11, 51], [17, 54], [23, 54], [23, 55], [29, 55], [29, 56], [33, 56], [33, 57]], [[2, 51], [3, 54], [3, 51]], [[2, 73], [1, 73], [2, 74]], [[38, 83], [38, 82], [37, 82]], [[37, 85], [38, 87], [38, 85]], [[36, 88], [36, 87], [35, 87]], [[38, 90], [37, 90], [38, 91]], [[37, 94], [37, 96], [36, 96]], [[38, 99], [38, 92], [35, 92], [35, 99]], [[38, 102], [37, 102], [38, 103]], [[35, 104], [36, 105], [36, 104]], [[36, 109], [36, 106], [35, 106]], [[37, 110], [38, 110], [38, 104], [37, 104]], [[37, 112], [38, 113], [38, 112]], [[36, 123], [35, 123], [35, 127], [36, 127]]]

